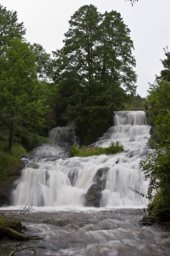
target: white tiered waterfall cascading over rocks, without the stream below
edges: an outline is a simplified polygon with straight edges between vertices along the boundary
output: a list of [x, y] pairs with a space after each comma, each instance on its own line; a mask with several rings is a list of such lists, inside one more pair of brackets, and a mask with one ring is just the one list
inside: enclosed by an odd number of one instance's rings
[[139, 164], [150, 150], [147, 146], [150, 126], [146, 125], [145, 112], [115, 112], [114, 124], [95, 146], [107, 147], [111, 141], [119, 141], [125, 151], [83, 158], [64, 157], [65, 148], [77, 141], [74, 129], [69, 126], [52, 129], [51, 145], [37, 148], [36, 156], [22, 170], [12, 193], [13, 205], [132, 207], [146, 204], [146, 198], [129, 189], [147, 193], [148, 182], [143, 179]]

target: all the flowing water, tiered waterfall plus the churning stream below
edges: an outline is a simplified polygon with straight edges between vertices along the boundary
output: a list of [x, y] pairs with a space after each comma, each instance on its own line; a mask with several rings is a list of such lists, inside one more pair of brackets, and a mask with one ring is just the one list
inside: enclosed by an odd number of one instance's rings
[[[56, 127], [50, 145], [22, 159], [26, 165], [15, 183], [12, 206], [0, 210], [18, 218], [18, 209], [33, 204], [34, 213], [20, 219], [29, 232], [47, 234], [46, 241], [31, 242], [39, 256], [169, 255], [168, 229], [148, 227], [140, 234], [140, 209], [148, 202], [129, 188], [147, 193], [139, 162], [151, 151], [149, 136], [145, 112], [115, 112], [114, 126], [93, 146], [119, 141], [125, 151], [68, 158], [68, 147], [79, 144], [75, 129], [71, 124]], [[14, 242], [0, 245], [10, 251]]]

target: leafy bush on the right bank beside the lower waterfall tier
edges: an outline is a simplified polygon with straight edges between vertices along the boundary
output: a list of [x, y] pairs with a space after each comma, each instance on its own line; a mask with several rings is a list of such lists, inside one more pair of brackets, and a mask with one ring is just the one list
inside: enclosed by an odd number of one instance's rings
[[[150, 179], [147, 196], [151, 200], [148, 212], [169, 215], [170, 219], [170, 146], [158, 148], [145, 161], [141, 161], [145, 179]], [[154, 192], [154, 193], [153, 193]], [[162, 211], [162, 212], [160, 212]]]

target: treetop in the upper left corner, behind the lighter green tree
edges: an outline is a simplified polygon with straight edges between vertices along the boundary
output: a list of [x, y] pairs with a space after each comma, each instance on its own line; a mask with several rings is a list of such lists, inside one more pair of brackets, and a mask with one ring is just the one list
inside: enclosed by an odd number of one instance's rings
[[24, 40], [25, 33], [23, 22], [18, 23], [17, 12], [7, 11], [6, 7], [0, 4], [0, 54], [3, 45], [9, 46], [13, 38]]

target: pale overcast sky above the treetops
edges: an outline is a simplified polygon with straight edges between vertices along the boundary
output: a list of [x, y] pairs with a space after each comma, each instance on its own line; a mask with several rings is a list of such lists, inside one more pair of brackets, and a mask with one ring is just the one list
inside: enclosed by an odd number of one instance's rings
[[116, 10], [131, 30], [138, 75], [137, 93], [147, 95], [148, 82], [159, 75], [163, 66], [163, 48], [170, 49], [170, 0], [139, 0], [132, 5], [124, 0], [0, 0], [9, 10], [16, 10], [19, 22], [27, 29], [27, 40], [40, 43], [48, 53], [63, 46], [70, 16], [84, 4], [94, 4], [98, 11]]

